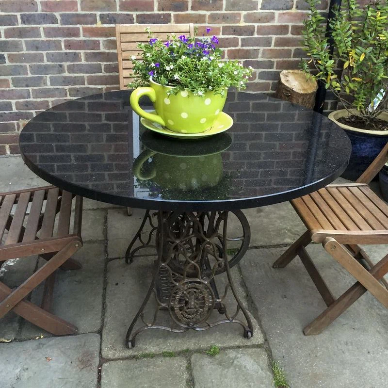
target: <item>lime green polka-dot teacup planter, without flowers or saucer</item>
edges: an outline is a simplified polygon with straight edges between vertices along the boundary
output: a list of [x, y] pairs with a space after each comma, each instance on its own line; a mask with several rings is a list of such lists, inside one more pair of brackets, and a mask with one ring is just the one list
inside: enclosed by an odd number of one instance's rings
[[[149, 87], [135, 89], [129, 98], [135, 113], [147, 120], [179, 133], [200, 133], [209, 129], [223, 110], [225, 96], [214, 94], [211, 90], [204, 96], [195, 96], [182, 90], [178, 94], [168, 94], [173, 89], [150, 79]], [[157, 114], [147, 113], [139, 106], [139, 99], [148, 96]]]

